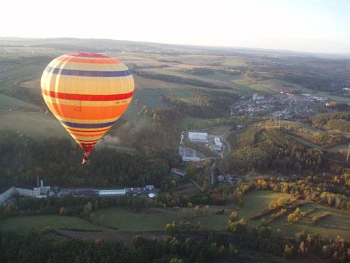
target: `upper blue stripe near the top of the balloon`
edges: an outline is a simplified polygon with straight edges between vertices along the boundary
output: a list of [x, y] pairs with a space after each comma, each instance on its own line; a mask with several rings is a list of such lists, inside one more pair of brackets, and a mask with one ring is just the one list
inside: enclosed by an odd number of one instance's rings
[[47, 73], [54, 73], [59, 75], [70, 75], [70, 76], [82, 76], [82, 77], [125, 77], [130, 76], [130, 70], [120, 71], [95, 71], [95, 70], [75, 70], [65, 68], [45, 68]]

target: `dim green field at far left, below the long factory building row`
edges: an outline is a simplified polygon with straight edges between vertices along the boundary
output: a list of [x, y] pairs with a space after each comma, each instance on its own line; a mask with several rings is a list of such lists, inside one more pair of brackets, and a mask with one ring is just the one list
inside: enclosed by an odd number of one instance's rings
[[0, 230], [14, 231], [26, 234], [32, 230], [41, 230], [43, 227], [53, 229], [103, 230], [103, 227], [76, 217], [48, 215], [48, 216], [18, 216], [0, 220]]

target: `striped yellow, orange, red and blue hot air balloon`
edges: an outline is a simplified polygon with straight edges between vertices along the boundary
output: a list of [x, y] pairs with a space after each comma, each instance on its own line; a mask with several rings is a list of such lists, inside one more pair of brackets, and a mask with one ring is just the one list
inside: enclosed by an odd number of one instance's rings
[[118, 59], [103, 54], [65, 54], [45, 68], [41, 91], [47, 107], [84, 150], [84, 164], [130, 104], [134, 80]]

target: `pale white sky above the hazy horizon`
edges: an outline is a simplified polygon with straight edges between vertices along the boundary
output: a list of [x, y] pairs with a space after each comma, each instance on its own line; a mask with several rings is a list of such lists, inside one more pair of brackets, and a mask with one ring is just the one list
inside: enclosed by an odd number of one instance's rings
[[0, 36], [350, 54], [350, 0], [6, 0]]

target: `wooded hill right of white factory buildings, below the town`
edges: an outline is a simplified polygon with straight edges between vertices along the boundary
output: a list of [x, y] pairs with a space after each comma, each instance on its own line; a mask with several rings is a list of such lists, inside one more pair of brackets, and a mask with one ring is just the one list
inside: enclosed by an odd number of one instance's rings
[[280, 130], [248, 128], [229, 137], [233, 153], [231, 170], [248, 172], [280, 170], [298, 172], [320, 171], [327, 167], [326, 156], [319, 149], [310, 149]]

